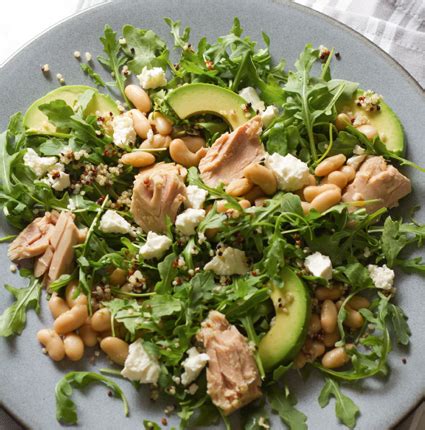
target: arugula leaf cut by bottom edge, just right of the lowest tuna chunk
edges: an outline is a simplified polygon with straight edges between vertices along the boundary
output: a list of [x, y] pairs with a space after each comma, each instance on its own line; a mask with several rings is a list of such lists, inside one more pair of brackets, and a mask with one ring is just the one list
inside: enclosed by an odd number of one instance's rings
[[277, 385], [273, 385], [267, 391], [267, 397], [272, 409], [291, 430], [307, 430], [307, 417], [294, 407], [297, 401], [287, 386], [279, 389]]

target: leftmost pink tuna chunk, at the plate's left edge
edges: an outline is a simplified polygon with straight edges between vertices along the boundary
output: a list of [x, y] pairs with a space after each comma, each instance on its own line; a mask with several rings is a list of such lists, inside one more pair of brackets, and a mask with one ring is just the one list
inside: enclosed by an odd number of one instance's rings
[[12, 261], [18, 261], [43, 254], [49, 245], [43, 235], [54, 222], [56, 222], [56, 215], [46, 212], [43, 217], [36, 218], [27, 225], [10, 244], [7, 253], [9, 258]]

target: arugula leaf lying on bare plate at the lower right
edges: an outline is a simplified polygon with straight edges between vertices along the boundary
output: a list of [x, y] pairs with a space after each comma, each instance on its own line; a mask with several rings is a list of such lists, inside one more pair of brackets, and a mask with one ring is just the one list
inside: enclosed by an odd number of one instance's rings
[[338, 383], [331, 378], [326, 378], [325, 386], [319, 395], [319, 405], [324, 408], [329, 404], [330, 397], [335, 397], [335, 414], [349, 428], [354, 428], [357, 415], [360, 413], [357, 405], [346, 395], [341, 393]]

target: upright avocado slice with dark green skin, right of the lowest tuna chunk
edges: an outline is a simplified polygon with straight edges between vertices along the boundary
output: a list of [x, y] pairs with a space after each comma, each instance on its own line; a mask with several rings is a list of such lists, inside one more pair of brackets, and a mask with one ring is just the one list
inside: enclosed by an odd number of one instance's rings
[[[276, 317], [273, 326], [261, 339], [258, 353], [264, 369], [270, 371], [279, 364], [290, 362], [304, 345], [310, 319], [310, 295], [303, 281], [289, 268], [282, 270], [283, 288], [272, 285]], [[279, 298], [291, 294], [293, 301], [279, 308]]]

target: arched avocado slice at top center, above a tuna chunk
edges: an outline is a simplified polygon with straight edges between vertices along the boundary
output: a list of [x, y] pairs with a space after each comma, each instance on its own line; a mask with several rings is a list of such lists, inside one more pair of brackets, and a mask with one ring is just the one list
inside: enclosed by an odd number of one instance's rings
[[233, 91], [213, 84], [186, 84], [170, 92], [168, 104], [180, 119], [210, 113], [222, 117], [235, 129], [252, 116], [244, 110], [246, 100]]

